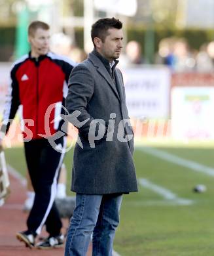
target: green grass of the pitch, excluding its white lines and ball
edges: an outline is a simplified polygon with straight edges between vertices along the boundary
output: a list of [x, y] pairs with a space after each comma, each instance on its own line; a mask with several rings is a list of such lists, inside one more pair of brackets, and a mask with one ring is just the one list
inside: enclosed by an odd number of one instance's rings
[[[160, 149], [160, 148], [159, 148]], [[180, 158], [214, 168], [213, 149], [162, 148]], [[6, 150], [10, 165], [24, 174], [22, 148]], [[67, 188], [71, 184], [73, 152], [65, 156]], [[146, 178], [177, 194], [194, 200], [192, 205], [173, 205], [162, 196], [139, 186], [138, 193], [124, 196], [114, 249], [122, 256], [212, 256], [214, 255], [214, 177], [192, 171], [140, 150], [134, 155], [137, 177]], [[205, 184], [207, 192], [192, 192]]]

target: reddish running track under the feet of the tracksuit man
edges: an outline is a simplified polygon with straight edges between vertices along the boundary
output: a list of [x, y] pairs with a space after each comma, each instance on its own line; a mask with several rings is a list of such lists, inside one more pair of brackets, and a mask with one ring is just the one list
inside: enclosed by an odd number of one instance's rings
[[[58, 249], [29, 249], [16, 239], [16, 232], [26, 230], [27, 213], [22, 211], [26, 199], [26, 188], [21, 182], [10, 175], [11, 194], [5, 205], [0, 207], [0, 256], [63, 256], [64, 248]], [[63, 220], [64, 233], [68, 221]], [[47, 236], [45, 230], [41, 236]], [[92, 255], [90, 245], [87, 256]]]

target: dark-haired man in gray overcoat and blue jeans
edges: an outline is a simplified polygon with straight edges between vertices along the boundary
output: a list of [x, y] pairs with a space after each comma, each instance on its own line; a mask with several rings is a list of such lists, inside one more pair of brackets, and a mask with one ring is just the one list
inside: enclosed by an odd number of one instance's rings
[[134, 134], [126, 108], [122, 74], [122, 22], [103, 18], [92, 25], [94, 51], [69, 78], [67, 119], [79, 129], [71, 190], [76, 208], [65, 255], [86, 255], [93, 232], [93, 255], [112, 255], [122, 194], [137, 191], [132, 159]]

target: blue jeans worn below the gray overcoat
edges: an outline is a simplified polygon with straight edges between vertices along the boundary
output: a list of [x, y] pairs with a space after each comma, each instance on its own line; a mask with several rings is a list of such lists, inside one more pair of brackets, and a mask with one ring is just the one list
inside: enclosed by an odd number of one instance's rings
[[121, 194], [77, 194], [67, 231], [65, 256], [85, 256], [93, 232], [93, 256], [111, 256], [119, 224]]

